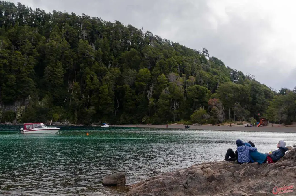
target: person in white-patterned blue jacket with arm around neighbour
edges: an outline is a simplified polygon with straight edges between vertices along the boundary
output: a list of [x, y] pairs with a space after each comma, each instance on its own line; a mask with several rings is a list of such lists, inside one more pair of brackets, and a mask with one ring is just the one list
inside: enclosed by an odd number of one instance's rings
[[257, 148], [246, 145], [242, 140], [237, 140], [237, 163], [250, 163], [250, 151], [256, 151]]

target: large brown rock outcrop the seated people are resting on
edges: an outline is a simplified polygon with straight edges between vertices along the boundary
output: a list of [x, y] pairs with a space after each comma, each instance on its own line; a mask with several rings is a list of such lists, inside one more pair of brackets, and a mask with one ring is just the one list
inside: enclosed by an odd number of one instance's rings
[[210, 162], [163, 173], [131, 185], [127, 196], [265, 196], [283, 193], [284, 196], [296, 195], [295, 148], [277, 163]]

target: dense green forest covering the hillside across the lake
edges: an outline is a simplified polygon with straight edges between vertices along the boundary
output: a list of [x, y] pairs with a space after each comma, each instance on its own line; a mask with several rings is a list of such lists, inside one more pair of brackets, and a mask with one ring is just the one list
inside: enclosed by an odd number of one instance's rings
[[291, 122], [295, 98], [205, 48], [119, 21], [0, 1], [1, 122], [214, 124], [258, 114]]

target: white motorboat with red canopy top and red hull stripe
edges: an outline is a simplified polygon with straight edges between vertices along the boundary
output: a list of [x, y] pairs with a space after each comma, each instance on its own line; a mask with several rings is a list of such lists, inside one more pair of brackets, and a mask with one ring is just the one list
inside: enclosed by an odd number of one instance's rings
[[47, 127], [43, 123], [24, 123], [24, 128], [20, 128], [22, 134], [59, 134], [59, 128]]

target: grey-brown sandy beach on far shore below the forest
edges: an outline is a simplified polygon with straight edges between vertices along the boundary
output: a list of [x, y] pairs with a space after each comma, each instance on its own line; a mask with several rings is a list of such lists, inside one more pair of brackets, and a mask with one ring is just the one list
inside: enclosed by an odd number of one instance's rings
[[[165, 125], [112, 125], [113, 127], [136, 127], [136, 128], [165, 128]], [[172, 124], [168, 125], [168, 129], [185, 129], [184, 125]], [[296, 133], [296, 127], [288, 127], [284, 125], [271, 125], [262, 127], [245, 127], [243, 126], [212, 126], [212, 125], [190, 125], [190, 129], [194, 130], [215, 130], [215, 131], [264, 131], [264, 132], [282, 132]]]

